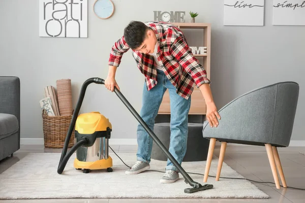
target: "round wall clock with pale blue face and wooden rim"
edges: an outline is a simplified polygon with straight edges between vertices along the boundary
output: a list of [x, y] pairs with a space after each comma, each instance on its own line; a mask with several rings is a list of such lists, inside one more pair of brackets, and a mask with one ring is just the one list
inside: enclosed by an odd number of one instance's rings
[[112, 16], [114, 5], [111, 0], [97, 0], [93, 5], [94, 13], [101, 19], [107, 19]]

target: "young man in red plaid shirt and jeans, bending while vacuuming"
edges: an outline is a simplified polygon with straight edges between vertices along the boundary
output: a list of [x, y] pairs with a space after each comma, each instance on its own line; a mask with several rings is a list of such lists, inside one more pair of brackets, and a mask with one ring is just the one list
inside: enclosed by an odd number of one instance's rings
[[[207, 105], [207, 120], [217, 126], [220, 116], [212, 98], [206, 71], [193, 56], [184, 34], [176, 26], [165, 22], [130, 22], [124, 36], [113, 45], [109, 58], [109, 72], [105, 87], [110, 91], [119, 89], [115, 72], [121, 57], [129, 49], [141, 73], [145, 76], [140, 116], [150, 129], [154, 129], [155, 118], [166, 89], [169, 90], [171, 106], [171, 135], [169, 152], [181, 164], [187, 150], [188, 114], [191, 94], [196, 85]], [[218, 118], [218, 119], [217, 119]], [[148, 168], [153, 139], [138, 124], [137, 161], [126, 174], [139, 174]], [[173, 183], [179, 179], [177, 168], [168, 159], [166, 173], [161, 183]]]

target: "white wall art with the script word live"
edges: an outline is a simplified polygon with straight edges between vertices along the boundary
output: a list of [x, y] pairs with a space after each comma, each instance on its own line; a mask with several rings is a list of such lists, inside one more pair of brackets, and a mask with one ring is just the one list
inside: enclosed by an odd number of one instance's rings
[[224, 25], [264, 25], [264, 0], [224, 0]]

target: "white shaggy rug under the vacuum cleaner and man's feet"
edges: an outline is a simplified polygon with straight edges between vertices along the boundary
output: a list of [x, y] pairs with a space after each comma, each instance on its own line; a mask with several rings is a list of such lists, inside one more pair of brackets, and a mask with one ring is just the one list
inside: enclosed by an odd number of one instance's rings
[[[136, 160], [135, 153], [117, 153], [127, 165]], [[214, 188], [195, 193], [184, 193], [190, 188], [180, 180], [172, 184], [161, 184], [163, 173], [146, 171], [138, 175], [125, 175], [127, 166], [110, 153], [113, 172], [92, 171], [88, 174], [73, 167], [74, 153], [63, 174], [57, 174], [60, 153], [29, 153], [0, 174], [0, 199], [35, 198], [269, 198], [247, 180], [209, 177], [208, 184]], [[216, 176], [218, 159], [213, 159], [209, 175]], [[151, 160], [150, 169], [164, 171], [166, 161]], [[204, 173], [205, 161], [183, 162], [187, 172]], [[203, 176], [190, 174], [194, 181], [203, 183]], [[223, 163], [221, 177], [243, 178]]]

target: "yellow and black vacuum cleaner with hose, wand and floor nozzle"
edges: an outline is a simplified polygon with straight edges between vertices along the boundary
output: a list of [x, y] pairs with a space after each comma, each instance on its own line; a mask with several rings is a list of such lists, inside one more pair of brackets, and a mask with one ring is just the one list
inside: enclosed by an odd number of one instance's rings
[[[107, 168], [108, 172], [112, 172], [112, 158], [108, 155], [108, 140], [110, 139], [110, 132], [112, 130], [111, 123], [107, 118], [101, 115], [99, 112], [91, 112], [79, 114], [79, 110], [85, 95], [87, 86], [90, 83], [105, 84], [105, 81], [101, 78], [89, 78], [86, 80], [80, 90], [80, 95], [76, 104], [76, 108], [72, 115], [70, 126], [67, 132], [62, 156], [60, 157], [57, 173], [62, 174], [64, 168], [71, 157], [76, 152], [76, 159], [74, 160], [74, 167], [78, 170], [83, 169], [84, 173], [88, 173], [90, 170], [98, 170]], [[193, 193], [201, 190], [211, 189], [213, 185], [195, 182], [189, 174], [181, 167], [177, 160], [171, 155], [171, 153], [162, 144], [159, 138], [156, 136], [153, 130], [151, 130], [136, 110], [131, 106], [124, 95], [114, 87], [114, 92], [123, 101], [124, 105], [129, 109], [133, 116], [144, 127], [153, 141], [161, 148], [165, 155], [176, 166], [179, 173], [185, 178], [185, 182], [190, 184], [193, 188], [185, 189], [185, 193]], [[75, 137], [77, 139], [76, 144], [67, 153], [69, 141], [72, 131], [75, 127]]]

